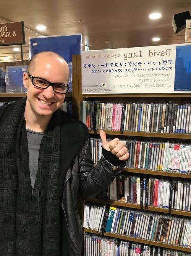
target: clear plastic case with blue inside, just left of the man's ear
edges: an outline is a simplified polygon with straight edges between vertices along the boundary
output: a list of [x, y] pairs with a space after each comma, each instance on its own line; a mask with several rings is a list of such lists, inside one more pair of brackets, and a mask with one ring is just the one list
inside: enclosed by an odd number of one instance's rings
[[27, 92], [23, 86], [23, 73], [27, 66], [6, 66], [6, 92]]

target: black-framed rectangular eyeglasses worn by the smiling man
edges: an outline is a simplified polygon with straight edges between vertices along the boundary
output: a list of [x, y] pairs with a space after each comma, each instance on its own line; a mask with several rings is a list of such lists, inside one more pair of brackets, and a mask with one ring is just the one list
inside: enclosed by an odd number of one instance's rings
[[52, 86], [53, 91], [62, 93], [62, 94], [66, 94], [66, 92], [70, 89], [68, 84], [65, 85], [65, 84], [51, 83], [45, 79], [42, 79], [42, 78], [39, 78], [36, 76], [32, 76], [30, 73], [28, 73], [28, 76], [29, 76], [29, 78], [31, 78], [32, 84], [41, 89], [47, 89], [49, 86]]

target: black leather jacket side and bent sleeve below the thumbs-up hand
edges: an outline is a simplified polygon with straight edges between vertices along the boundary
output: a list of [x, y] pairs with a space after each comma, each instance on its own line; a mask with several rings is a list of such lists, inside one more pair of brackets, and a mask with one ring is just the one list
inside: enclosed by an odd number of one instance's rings
[[81, 255], [82, 225], [79, 218], [77, 195], [80, 190], [83, 197], [92, 197], [108, 187], [117, 173], [124, 166], [113, 166], [102, 158], [94, 168], [91, 155], [89, 135], [86, 136], [84, 145], [73, 160], [66, 173], [62, 197], [63, 210], [63, 252], [64, 256]]

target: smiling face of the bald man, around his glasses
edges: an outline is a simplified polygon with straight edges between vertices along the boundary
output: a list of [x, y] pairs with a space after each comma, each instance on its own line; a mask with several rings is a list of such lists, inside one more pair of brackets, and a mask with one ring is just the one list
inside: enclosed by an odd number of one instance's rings
[[[62, 59], [42, 54], [37, 56], [30, 74], [52, 83], [67, 85], [69, 71], [67, 64], [63, 63]], [[62, 106], [65, 94], [53, 91], [52, 86], [47, 89], [37, 88], [32, 84], [32, 79], [27, 73], [23, 74], [23, 84], [25, 88], [28, 88], [27, 114], [30, 115], [30, 111], [32, 111], [38, 116], [50, 116]]]

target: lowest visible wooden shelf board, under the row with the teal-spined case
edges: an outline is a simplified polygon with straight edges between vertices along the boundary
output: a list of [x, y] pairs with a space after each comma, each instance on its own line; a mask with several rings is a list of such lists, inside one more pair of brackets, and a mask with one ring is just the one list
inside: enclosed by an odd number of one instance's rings
[[[100, 235], [97, 231], [90, 230], [88, 228], [84, 228], [84, 232]], [[146, 240], [146, 239], [135, 238], [135, 237], [132, 237], [132, 236], [124, 236], [124, 235], [118, 235], [118, 234], [108, 233], [108, 232], [104, 232], [104, 236], [109, 236], [109, 237], [113, 237], [113, 238], [117, 238], [117, 239], [133, 241], [133, 242], [136, 242], [136, 243], [144, 243], [144, 244], [149, 244], [149, 245], [154, 245], [154, 246], [160, 246], [160, 247], [163, 247], [163, 248], [168, 248], [168, 249], [173, 249], [173, 250], [191, 252], [191, 248], [182, 247], [182, 246], [178, 246], [178, 245], [171, 245], [171, 244], [149, 241], [149, 240]]]

